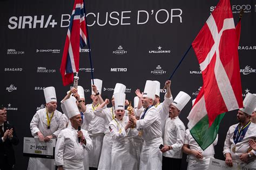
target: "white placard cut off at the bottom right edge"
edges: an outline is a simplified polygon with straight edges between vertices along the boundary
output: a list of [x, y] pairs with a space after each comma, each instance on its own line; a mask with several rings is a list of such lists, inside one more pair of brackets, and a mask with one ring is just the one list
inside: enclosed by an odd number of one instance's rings
[[227, 166], [226, 162], [219, 159], [210, 159], [209, 170], [223, 170], [223, 169], [232, 169], [232, 170], [256, 170], [255, 168], [248, 166], [241, 166], [233, 162], [233, 167]]

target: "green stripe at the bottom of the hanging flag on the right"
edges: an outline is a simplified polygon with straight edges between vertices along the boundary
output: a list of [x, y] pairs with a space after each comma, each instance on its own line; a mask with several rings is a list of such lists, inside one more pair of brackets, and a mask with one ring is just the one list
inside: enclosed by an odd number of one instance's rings
[[212, 123], [211, 127], [209, 128], [208, 115], [205, 115], [190, 130], [191, 135], [203, 150], [210, 146], [216, 139], [219, 131], [220, 121], [223, 119], [224, 116], [225, 113], [218, 115]]

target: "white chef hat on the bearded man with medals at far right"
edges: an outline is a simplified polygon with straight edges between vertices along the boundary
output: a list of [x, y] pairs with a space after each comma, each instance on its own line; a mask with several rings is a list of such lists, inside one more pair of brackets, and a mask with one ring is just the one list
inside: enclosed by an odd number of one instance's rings
[[244, 107], [240, 108], [240, 110], [245, 112], [248, 115], [252, 115], [252, 112], [256, 108], [256, 95], [247, 93], [243, 103], [244, 103]]

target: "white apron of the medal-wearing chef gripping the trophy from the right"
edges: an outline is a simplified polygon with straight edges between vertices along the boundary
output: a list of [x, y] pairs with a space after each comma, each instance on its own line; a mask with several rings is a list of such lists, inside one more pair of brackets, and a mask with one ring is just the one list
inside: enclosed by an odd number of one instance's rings
[[163, 144], [163, 139], [161, 137], [144, 141], [142, 153], [140, 154], [139, 169], [161, 170], [163, 154], [159, 149], [160, 144]]

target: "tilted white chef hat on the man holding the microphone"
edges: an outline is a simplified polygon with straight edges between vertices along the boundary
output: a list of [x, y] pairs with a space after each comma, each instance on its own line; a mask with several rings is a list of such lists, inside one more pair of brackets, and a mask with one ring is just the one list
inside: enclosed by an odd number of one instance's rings
[[63, 103], [69, 118], [80, 115], [76, 101], [73, 100], [73, 98], [68, 98], [67, 100], [64, 100]]

